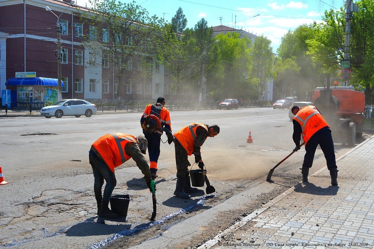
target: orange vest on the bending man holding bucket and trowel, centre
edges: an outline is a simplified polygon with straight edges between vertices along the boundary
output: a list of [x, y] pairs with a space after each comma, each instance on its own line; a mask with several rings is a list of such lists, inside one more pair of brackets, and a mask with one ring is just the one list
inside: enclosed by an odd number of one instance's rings
[[206, 131], [208, 131], [208, 127], [206, 127], [205, 124], [192, 123], [190, 125], [183, 127], [174, 134], [174, 137], [178, 139], [178, 141], [182, 144], [183, 148], [187, 151], [188, 156], [192, 155], [193, 145], [196, 140], [196, 129], [199, 126], [203, 127]]

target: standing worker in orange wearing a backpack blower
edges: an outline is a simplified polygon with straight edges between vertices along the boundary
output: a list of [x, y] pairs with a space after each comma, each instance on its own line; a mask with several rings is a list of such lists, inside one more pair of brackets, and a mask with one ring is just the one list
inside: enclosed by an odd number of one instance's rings
[[[145, 138], [148, 141], [148, 154], [149, 154], [149, 161], [150, 161], [150, 171], [153, 178], [156, 178], [156, 171], [157, 171], [157, 161], [160, 156], [160, 141], [162, 130], [157, 128], [165, 128], [171, 132], [171, 122], [170, 122], [170, 114], [168, 109], [165, 108], [165, 99], [163, 97], [158, 97], [156, 104], [148, 105], [145, 108], [145, 111], [140, 119], [140, 124], [143, 128], [143, 133]], [[159, 124], [157, 128], [148, 127], [144, 125], [144, 122], [148, 119], [147, 117], [153, 117], [154, 119], [159, 119]], [[152, 120], [151, 120], [152, 121]], [[153, 129], [154, 128], [154, 129]], [[166, 133], [166, 135], [168, 135]]]

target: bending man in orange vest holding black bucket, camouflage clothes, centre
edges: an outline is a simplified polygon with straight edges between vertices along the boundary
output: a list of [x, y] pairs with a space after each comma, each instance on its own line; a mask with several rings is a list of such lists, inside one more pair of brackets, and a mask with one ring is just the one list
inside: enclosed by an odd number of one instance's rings
[[196, 192], [198, 189], [192, 188], [190, 183], [190, 172], [188, 166], [188, 156], [194, 154], [195, 162], [199, 168], [204, 170], [204, 163], [201, 158], [200, 147], [207, 137], [215, 137], [220, 133], [218, 125], [205, 125], [192, 123], [183, 127], [174, 134], [175, 162], [177, 164], [177, 186], [174, 195], [182, 198], [190, 198], [188, 193]]

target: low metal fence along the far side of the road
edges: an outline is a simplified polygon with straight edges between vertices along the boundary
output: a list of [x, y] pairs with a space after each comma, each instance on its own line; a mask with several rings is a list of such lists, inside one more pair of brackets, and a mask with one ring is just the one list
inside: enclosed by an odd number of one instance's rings
[[[149, 104], [153, 104], [154, 100], [113, 100], [113, 99], [85, 99], [86, 101], [96, 105], [98, 112], [104, 111], [126, 111], [141, 112]], [[221, 101], [207, 100], [202, 102], [200, 109], [217, 109]], [[239, 103], [239, 108], [247, 107], [270, 107], [272, 102], [247, 100]], [[10, 103], [1, 103], [0, 112], [40, 112], [45, 106], [53, 105], [53, 103], [45, 101], [23, 102], [13, 101]], [[9, 106], [9, 107], [8, 107]], [[197, 100], [166, 100], [165, 107], [169, 110], [197, 109], [199, 102]]]

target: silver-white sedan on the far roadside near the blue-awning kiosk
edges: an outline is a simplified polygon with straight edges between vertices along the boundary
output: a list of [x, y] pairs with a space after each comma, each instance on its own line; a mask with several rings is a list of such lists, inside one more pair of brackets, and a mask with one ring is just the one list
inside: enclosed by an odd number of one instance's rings
[[55, 116], [61, 118], [62, 116], [76, 116], [79, 118], [81, 115], [91, 117], [92, 114], [96, 114], [96, 105], [82, 100], [82, 99], [65, 99], [61, 100], [52, 106], [43, 107], [40, 110], [40, 115], [50, 118]]

